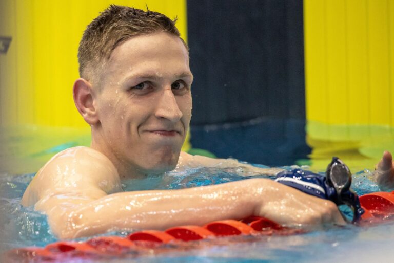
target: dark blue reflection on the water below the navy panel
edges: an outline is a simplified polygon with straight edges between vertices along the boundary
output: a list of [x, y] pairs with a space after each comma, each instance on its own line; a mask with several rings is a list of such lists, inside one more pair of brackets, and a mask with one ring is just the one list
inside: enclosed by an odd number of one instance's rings
[[236, 158], [270, 166], [291, 165], [306, 159], [305, 121], [255, 119], [240, 123], [193, 125], [191, 144], [220, 158]]

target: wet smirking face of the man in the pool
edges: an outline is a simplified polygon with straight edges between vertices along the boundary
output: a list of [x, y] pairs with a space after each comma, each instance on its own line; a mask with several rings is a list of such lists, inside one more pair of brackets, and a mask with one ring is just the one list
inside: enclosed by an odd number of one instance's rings
[[140, 174], [172, 170], [189, 128], [192, 80], [178, 37], [161, 32], [122, 43], [93, 94], [94, 143], [117, 167]]

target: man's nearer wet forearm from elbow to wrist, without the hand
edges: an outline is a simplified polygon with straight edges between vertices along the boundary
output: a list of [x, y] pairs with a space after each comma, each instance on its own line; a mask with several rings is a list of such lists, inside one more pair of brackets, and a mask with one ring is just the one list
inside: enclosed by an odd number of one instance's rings
[[256, 195], [271, 183], [253, 179], [182, 190], [116, 193], [69, 209], [61, 217], [48, 214], [49, 223], [61, 238], [75, 238], [109, 229], [166, 229], [240, 219], [259, 210]]

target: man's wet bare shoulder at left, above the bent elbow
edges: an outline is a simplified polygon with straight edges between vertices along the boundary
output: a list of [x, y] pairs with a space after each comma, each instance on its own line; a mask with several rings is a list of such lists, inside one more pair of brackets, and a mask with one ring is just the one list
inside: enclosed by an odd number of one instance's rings
[[73, 147], [52, 157], [34, 176], [22, 198], [25, 206], [56, 192], [97, 188], [106, 193], [121, 190], [112, 162], [90, 147]]

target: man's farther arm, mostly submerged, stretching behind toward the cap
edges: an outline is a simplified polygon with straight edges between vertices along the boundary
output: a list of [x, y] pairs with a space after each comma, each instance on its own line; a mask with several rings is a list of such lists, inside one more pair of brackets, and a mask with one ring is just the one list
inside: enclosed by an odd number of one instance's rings
[[178, 162], [178, 167], [216, 167], [216, 168], [240, 168], [242, 173], [246, 176], [253, 174], [266, 174], [268, 176], [274, 176], [277, 173], [283, 171], [280, 168], [260, 168], [250, 164], [240, 163], [235, 159], [220, 159], [220, 158], [209, 158], [205, 156], [195, 155], [192, 156], [187, 152], [181, 152], [181, 156]]

